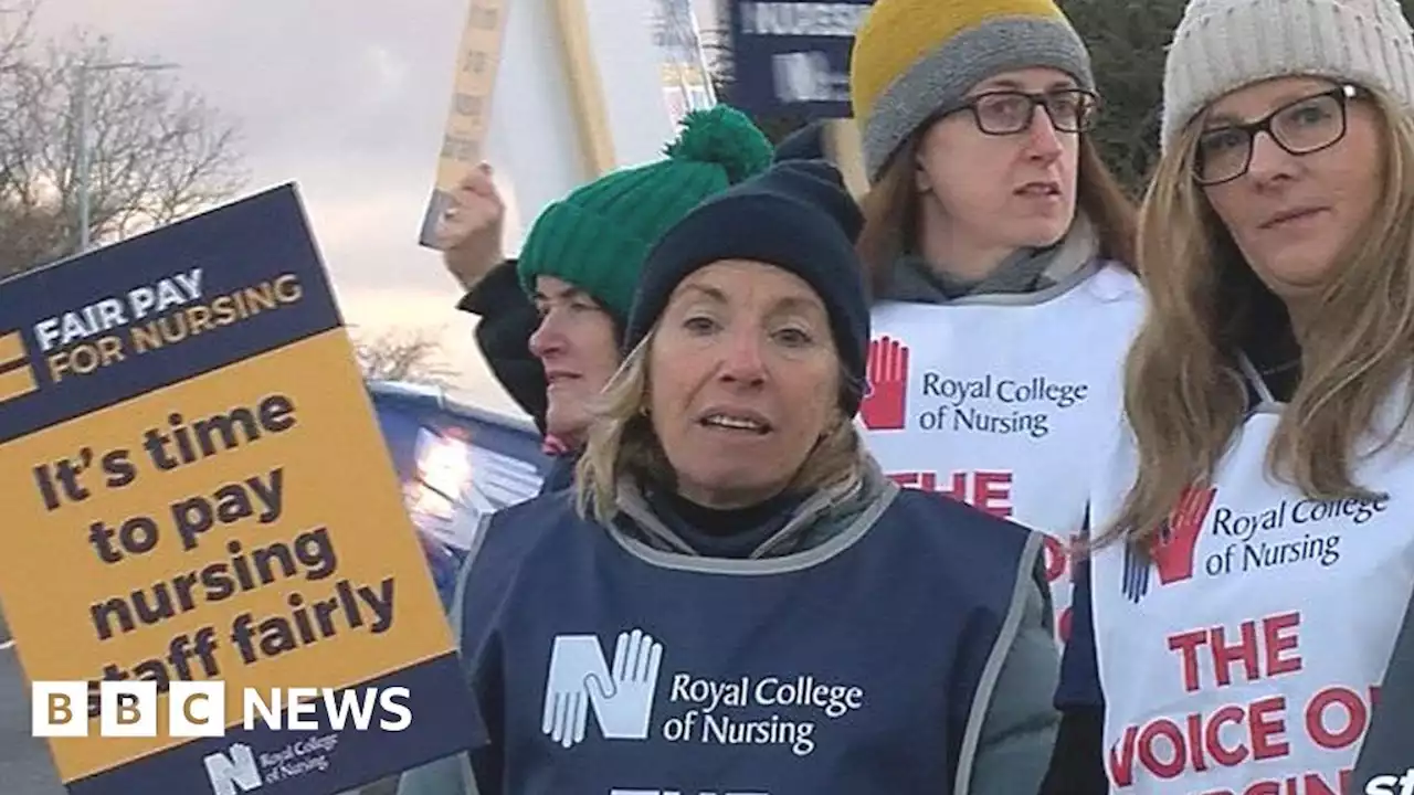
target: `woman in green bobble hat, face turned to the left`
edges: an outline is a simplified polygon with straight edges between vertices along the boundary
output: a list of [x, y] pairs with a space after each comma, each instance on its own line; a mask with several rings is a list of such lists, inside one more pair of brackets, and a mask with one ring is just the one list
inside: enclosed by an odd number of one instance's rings
[[[765, 170], [772, 149], [745, 115], [718, 105], [689, 113], [665, 156], [607, 174], [546, 208], [515, 265], [516, 280], [539, 315], [529, 352], [544, 372], [543, 430], [557, 443], [551, 450], [563, 453], [544, 491], [570, 482], [574, 453], [590, 422], [587, 405], [618, 369], [618, 342], [648, 249], [699, 202]], [[471, 194], [468, 202], [485, 199], [484, 194]], [[499, 224], [481, 225], [467, 236], [478, 233], [499, 238]], [[462, 240], [447, 246], [448, 252], [458, 248], [475, 246]], [[451, 257], [448, 253], [448, 267], [457, 272]], [[493, 259], [499, 262], [499, 256]], [[467, 277], [458, 276], [465, 284]], [[505, 310], [489, 306], [479, 311], [484, 324], [492, 311]], [[482, 341], [493, 359], [486, 347]], [[508, 368], [495, 369], [501, 375]]]

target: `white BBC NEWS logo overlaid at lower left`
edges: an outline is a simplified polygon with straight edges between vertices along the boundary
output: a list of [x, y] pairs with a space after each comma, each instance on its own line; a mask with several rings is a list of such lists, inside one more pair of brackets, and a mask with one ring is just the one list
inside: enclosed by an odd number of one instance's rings
[[[82, 680], [35, 682], [31, 733], [88, 737], [90, 693]], [[165, 737], [226, 734], [225, 682], [173, 682], [167, 696]], [[375, 726], [379, 731], [403, 731], [413, 723], [409, 697], [407, 687], [243, 687], [240, 726], [246, 731], [257, 724], [276, 731], [317, 731], [325, 726], [335, 731], [369, 731]], [[99, 737], [157, 737], [158, 712], [157, 682], [99, 682]]]

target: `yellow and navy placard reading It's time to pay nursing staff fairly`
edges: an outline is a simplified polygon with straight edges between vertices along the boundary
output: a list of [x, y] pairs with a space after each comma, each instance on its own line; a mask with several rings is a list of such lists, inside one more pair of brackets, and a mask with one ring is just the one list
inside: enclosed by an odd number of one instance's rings
[[[215, 738], [168, 737], [165, 696], [156, 737], [100, 737], [95, 699], [88, 737], [51, 738], [71, 792], [324, 795], [475, 740], [293, 185], [3, 282], [0, 323], [0, 603], [27, 676], [226, 683]], [[413, 717], [245, 730], [243, 687], [407, 687]]]

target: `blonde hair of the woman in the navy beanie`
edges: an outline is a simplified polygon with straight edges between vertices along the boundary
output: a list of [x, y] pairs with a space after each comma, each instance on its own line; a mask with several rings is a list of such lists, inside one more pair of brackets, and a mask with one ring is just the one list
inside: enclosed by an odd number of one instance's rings
[[[625, 477], [676, 488], [673, 467], [648, 416], [648, 352], [656, 335], [655, 324], [624, 359], [591, 407], [594, 420], [574, 477], [580, 516], [587, 518], [592, 511], [597, 521], [611, 522], [618, 513], [618, 484]], [[840, 414], [788, 488], [847, 494], [864, 481], [865, 455], [854, 424]]]

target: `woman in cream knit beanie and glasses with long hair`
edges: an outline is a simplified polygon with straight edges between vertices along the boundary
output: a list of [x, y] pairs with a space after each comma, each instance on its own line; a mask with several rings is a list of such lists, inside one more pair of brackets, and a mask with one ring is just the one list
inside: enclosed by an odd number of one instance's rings
[[1117, 789], [1408, 789], [1411, 109], [1396, 0], [1193, 0], [1174, 34], [1059, 699], [1103, 731], [1058, 758]]

